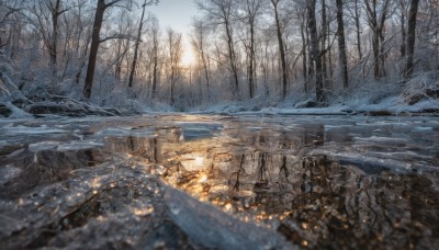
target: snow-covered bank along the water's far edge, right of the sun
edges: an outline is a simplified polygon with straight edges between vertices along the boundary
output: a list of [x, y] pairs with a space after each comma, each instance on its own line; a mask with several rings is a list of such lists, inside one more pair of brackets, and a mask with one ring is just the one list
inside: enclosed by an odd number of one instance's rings
[[[371, 87], [371, 89], [373, 88]], [[414, 105], [409, 105], [404, 95], [389, 93], [389, 91], [385, 92], [386, 90], [380, 91], [380, 88], [374, 90], [375, 94], [359, 92], [351, 96], [333, 100], [327, 107], [301, 107], [312, 102], [312, 99], [303, 99], [303, 96], [289, 96], [285, 101], [264, 100], [263, 96], [257, 96], [248, 101], [229, 101], [194, 107], [189, 110], [189, 113], [221, 115], [354, 115], [381, 112], [398, 115], [439, 110], [439, 100], [424, 99]]]

